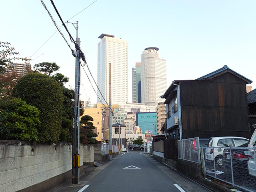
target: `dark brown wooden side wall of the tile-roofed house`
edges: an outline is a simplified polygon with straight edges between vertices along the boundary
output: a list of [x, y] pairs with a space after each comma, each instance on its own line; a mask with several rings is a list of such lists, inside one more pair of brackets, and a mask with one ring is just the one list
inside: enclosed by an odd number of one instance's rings
[[250, 138], [246, 82], [225, 73], [180, 84], [183, 138]]

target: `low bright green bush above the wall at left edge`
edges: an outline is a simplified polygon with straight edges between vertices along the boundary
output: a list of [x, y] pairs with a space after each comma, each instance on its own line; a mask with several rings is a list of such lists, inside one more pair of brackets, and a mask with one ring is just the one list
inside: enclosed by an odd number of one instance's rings
[[0, 139], [38, 141], [39, 110], [21, 99], [7, 102], [0, 112]]

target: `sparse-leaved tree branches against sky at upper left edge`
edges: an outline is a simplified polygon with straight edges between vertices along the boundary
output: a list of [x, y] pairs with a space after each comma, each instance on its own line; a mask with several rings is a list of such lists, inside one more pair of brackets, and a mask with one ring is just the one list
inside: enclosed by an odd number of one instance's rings
[[30, 60], [17, 57], [18, 54], [19, 52], [16, 52], [9, 42], [0, 42], [0, 74], [6, 72], [8, 63], [12, 63], [13, 60]]

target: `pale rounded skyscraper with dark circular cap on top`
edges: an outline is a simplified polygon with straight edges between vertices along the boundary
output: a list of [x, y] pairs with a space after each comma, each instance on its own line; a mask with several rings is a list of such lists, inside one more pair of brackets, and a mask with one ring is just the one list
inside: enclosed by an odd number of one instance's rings
[[141, 54], [141, 100], [146, 105], [157, 106], [167, 89], [166, 60], [159, 58], [157, 47], [148, 47]]

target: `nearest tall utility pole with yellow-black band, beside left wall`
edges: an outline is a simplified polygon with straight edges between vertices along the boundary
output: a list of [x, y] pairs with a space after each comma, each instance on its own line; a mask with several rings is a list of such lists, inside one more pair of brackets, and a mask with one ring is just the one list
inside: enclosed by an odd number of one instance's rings
[[[76, 22], [76, 44], [80, 47], [80, 38], [78, 38], [78, 21]], [[74, 118], [73, 118], [73, 145], [72, 145], [72, 184], [79, 182], [79, 154], [80, 154], [80, 104], [79, 104], [79, 88], [80, 88], [80, 52], [72, 51], [76, 57], [75, 70], [75, 101], [74, 101]]]

